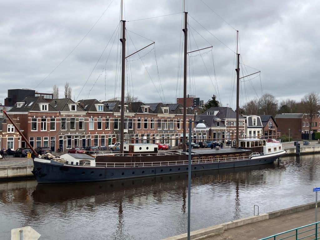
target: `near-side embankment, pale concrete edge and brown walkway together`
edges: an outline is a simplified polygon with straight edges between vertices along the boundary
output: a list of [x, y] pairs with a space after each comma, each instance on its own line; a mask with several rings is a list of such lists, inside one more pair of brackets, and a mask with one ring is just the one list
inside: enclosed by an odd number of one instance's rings
[[[271, 236], [279, 232], [313, 223], [315, 220], [315, 204], [315, 202], [303, 204], [199, 229], [190, 232], [190, 239], [242, 240], [260, 239]], [[274, 223], [272, 223], [272, 221]], [[259, 223], [259, 225], [255, 225], [257, 223]], [[271, 228], [273, 224], [276, 225], [278, 229], [276, 227]], [[187, 240], [187, 233], [168, 237], [163, 240]]]

